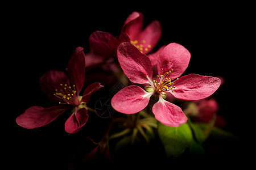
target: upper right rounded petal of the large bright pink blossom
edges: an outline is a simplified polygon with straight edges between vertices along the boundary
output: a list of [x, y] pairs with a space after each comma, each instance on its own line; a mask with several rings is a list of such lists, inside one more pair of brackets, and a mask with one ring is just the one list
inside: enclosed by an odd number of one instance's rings
[[184, 46], [171, 43], [163, 49], [158, 59], [158, 74], [161, 75], [171, 71], [171, 74], [168, 74], [168, 78], [175, 79], [187, 69], [190, 53]]

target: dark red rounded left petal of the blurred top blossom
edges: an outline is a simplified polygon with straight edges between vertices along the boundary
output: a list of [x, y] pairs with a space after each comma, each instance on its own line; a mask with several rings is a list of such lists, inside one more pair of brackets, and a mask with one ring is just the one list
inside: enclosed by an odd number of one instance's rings
[[93, 32], [89, 37], [89, 44], [96, 55], [111, 58], [117, 54], [118, 40], [108, 32]]

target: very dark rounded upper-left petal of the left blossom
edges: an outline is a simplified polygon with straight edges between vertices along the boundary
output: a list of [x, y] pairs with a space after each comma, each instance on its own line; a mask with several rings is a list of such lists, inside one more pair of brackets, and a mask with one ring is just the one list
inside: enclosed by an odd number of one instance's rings
[[47, 71], [40, 77], [39, 82], [41, 90], [49, 95], [55, 94], [56, 89], [60, 90], [63, 88], [60, 86], [61, 83], [69, 85], [68, 76], [62, 71], [57, 70]]

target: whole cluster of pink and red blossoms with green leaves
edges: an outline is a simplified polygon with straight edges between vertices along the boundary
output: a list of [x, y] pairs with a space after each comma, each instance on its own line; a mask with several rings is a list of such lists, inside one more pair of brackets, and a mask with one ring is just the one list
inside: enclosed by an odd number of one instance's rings
[[[180, 156], [185, 148], [195, 154], [194, 148], [201, 149], [210, 130], [225, 125], [224, 118], [217, 116], [218, 103], [211, 97], [222, 81], [208, 75], [183, 75], [191, 58], [189, 51], [175, 42], [155, 50], [162, 27], [158, 20], [143, 27], [143, 18], [140, 12], [130, 14], [118, 36], [93, 32], [89, 36], [90, 52], [84, 54], [82, 47], [76, 48], [69, 59], [67, 74], [50, 70], [40, 78], [42, 91], [57, 105], [32, 106], [16, 118], [16, 123], [27, 129], [39, 128], [71, 111], [65, 131], [78, 133], [89, 118], [88, 111], [97, 114], [96, 108], [88, 106], [90, 96], [104, 87], [90, 82], [83, 88], [85, 71], [101, 68], [120, 80], [127, 79], [110, 96], [115, 116], [109, 118], [105, 135], [99, 142], [88, 137], [96, 147], [86, 152], [82, 161], [99, 157], [110, 160], [117, 148], [134, 144], [138, 139], [150, 143], [156, 135], [168, 157]], [[109, 83], [114, 86], [117, 82], [109, 79]], [[114, 150], [111, 139], [117, 139]]]

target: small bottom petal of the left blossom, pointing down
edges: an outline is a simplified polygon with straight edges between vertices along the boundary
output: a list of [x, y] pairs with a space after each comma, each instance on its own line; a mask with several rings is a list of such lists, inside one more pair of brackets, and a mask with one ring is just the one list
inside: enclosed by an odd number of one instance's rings
[[67, 133], [79, 132], [84, 127], [88, 117], [89, 116], [85, 108], [75, 108], [75, 112], [65, 122], [65, 131], [67, 131]]

